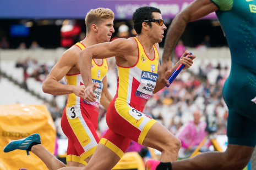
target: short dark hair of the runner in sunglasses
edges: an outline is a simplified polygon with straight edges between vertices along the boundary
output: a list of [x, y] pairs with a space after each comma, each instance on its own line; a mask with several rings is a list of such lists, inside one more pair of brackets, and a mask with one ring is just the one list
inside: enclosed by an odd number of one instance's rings
[[[133, 27], [136, 33], [139, 35], [141, 33], [142, 29], [142, 20], [149, 20], [153, 19], [154, 16], [152, 13], [160, 13], [161, 11], [158, 8], [155, 7], [140, 7], [136, 9], [136, 11], [133, 13]], [[148, 22], [149, 26], [151, 27], [151, 22]]]

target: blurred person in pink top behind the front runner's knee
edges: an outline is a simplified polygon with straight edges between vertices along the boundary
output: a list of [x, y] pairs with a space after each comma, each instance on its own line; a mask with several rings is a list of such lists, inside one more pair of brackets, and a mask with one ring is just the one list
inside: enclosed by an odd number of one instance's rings
[[[181, 150], [179, 156], [189, 157], [201, 141], [208, 135], [205, 132], [206, 123], [200, 121], [201, 112], [199, 110], [193, 113], [194, 121], [184, 124], [178, 131], [176, 137], [181, 140]], [[209, 151], [210, 143], [200, 148], [201, 152]]]

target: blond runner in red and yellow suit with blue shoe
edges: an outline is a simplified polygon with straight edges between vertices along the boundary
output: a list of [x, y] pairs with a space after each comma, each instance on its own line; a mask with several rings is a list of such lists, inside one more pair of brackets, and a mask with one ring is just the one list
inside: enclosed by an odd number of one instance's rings
[[[94, 59], [90, 61], [90, 70], [92, 80], [100, 86], [94, 91], [97, 100], [92, 103], [83, 101], [84, 86], [80, 75], [79, 53], [85, 47], [94, 44], [109, 42], [113, 29], [114, 14], [112, 10], [105, 8], [91, 9], [86, 15], [86, 38], [68, 49], [53, 67], [46, 81], [43, 83], [43, 92], [52, 95], [68, 94], [68, 101], [62, 116], [62, 129], [68, 137], [67, 165], [68, 166], [85, 166], [84, 161], [89, 162], [99, 138], [96, 134], [97, 116], [99, 103], [106, 109], [113, 97], [107, 90], [106, 73], [108, 70], [106, 59]], [[65, 76], [67, 85], [58, 81]], [[103, 88], [102, 88], [103, 86]], [[32, 137], [31, 137], [32, 136]], [[66, 167], [55, 156], [50, 154], [41, 144], [39, 135], [31, 135], [24, 141], [29, 141], [28, 147], [21, 148], [29, 150], [37, 155], [48, 167], [48, 169], [59, 169]], [[34, 140], [36, 141], [32, 143]], [[17, 145], [18, 141], [9, 143], [5, 149], [12, 151], [20, 149], [23, 142]], [[36, 145], [34, 145], [36, 144]], [[10, 147], [9, 147], [10, 146]], [[28, 149], [27, 149], [28, 148]]]

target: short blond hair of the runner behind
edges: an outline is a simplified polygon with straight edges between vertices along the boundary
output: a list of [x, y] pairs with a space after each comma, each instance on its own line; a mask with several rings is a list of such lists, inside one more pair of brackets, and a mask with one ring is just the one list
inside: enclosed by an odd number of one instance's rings
[[114, 19], [115, 15], [111, 9], [96, 8], [91, 9], [85, 16], [86, 31], [89, 33], [92, 24], [100, 24], [104, 19]]

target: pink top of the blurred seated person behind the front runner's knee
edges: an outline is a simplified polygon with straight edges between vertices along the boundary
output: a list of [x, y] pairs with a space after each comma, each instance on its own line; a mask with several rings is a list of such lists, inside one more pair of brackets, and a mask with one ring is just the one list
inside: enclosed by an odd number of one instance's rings
[[[188, 148], [188, 146], [197, 146], [201, 141], [208, 135], [208, 132], [205, 132], [206, 123], [199, 122], [195, 124], [194, 121], [189, 121], [184, 124], [176, 134], [176, 137], [181, 140], [181, 147]], [[211, 143], [206, 144], [208, 147]]]

